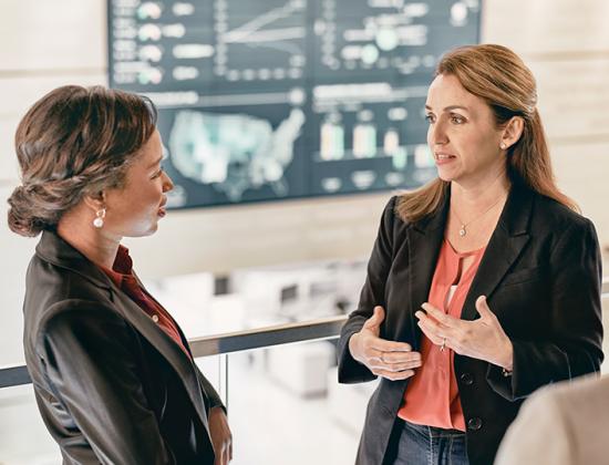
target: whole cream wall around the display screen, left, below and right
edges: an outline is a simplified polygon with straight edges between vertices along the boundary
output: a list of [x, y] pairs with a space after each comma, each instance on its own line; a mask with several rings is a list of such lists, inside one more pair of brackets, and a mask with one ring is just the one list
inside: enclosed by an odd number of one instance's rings
[[[483, 41], [512, 46], [538, 78], [557, 178], [609, 244], [609, 2], [487, 0]], [[0, 198], [17, 184], [12, 135], [28, 105], [62, 84], [105, 84], [104, 0], [2, 0]], [[144, 277], [368, 255], [389, 193], [172, 211], [128, 241]], [[0, 203], [6, 218], [6, 203]], [[0, 365], [21, 361], [23, 273], [35, 240], [0, 224]]]

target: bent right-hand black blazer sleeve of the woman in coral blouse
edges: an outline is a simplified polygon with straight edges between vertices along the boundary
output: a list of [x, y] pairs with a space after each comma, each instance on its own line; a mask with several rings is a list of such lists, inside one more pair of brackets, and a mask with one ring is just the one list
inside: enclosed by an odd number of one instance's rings
[[602, 362], [601, 257], [591, 221], [580, 218], [558, 236], [549, 273], [551, 335], [512, 340], [512, 376], [503, 376], [495, 365], [488, 368], [491, 386], [510, 401], [545, 384], [597, 372]]

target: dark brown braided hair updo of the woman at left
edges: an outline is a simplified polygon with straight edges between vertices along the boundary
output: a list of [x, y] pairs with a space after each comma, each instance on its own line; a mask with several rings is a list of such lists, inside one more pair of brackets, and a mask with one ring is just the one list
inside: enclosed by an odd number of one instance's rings
[[14, 136], [22, 185], [8, 199], [9, 228], [52, 230], [84, 195], [122, 187], [155, 125], [154, 104], [127, 92], [65, 85], [44, 95]]

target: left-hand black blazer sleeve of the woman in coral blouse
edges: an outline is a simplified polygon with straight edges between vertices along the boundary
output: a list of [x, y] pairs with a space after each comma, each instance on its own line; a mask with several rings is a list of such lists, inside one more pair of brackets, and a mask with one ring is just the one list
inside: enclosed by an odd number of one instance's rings
[[368, 273], [363, 285], [358, 309], [344, 323], [339, 341], [339, 382], [359, 383], [374, 380], [376, 376], [363, 364], [351, 356], [349, 339], [359, 332], [365, 320], [372, 317], [375, 306], [385, 307], [385, 283], [393, 259], [393, 227], [395, 223], [395, 202], [392, 197], [385, 206], [374, 248], [368, 262]]

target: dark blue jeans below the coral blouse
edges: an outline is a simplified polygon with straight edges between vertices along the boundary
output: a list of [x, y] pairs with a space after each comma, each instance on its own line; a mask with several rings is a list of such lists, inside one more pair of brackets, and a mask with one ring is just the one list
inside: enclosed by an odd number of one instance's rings
[[394, 465], [468, 465], [465, 433], [404, 422]]

